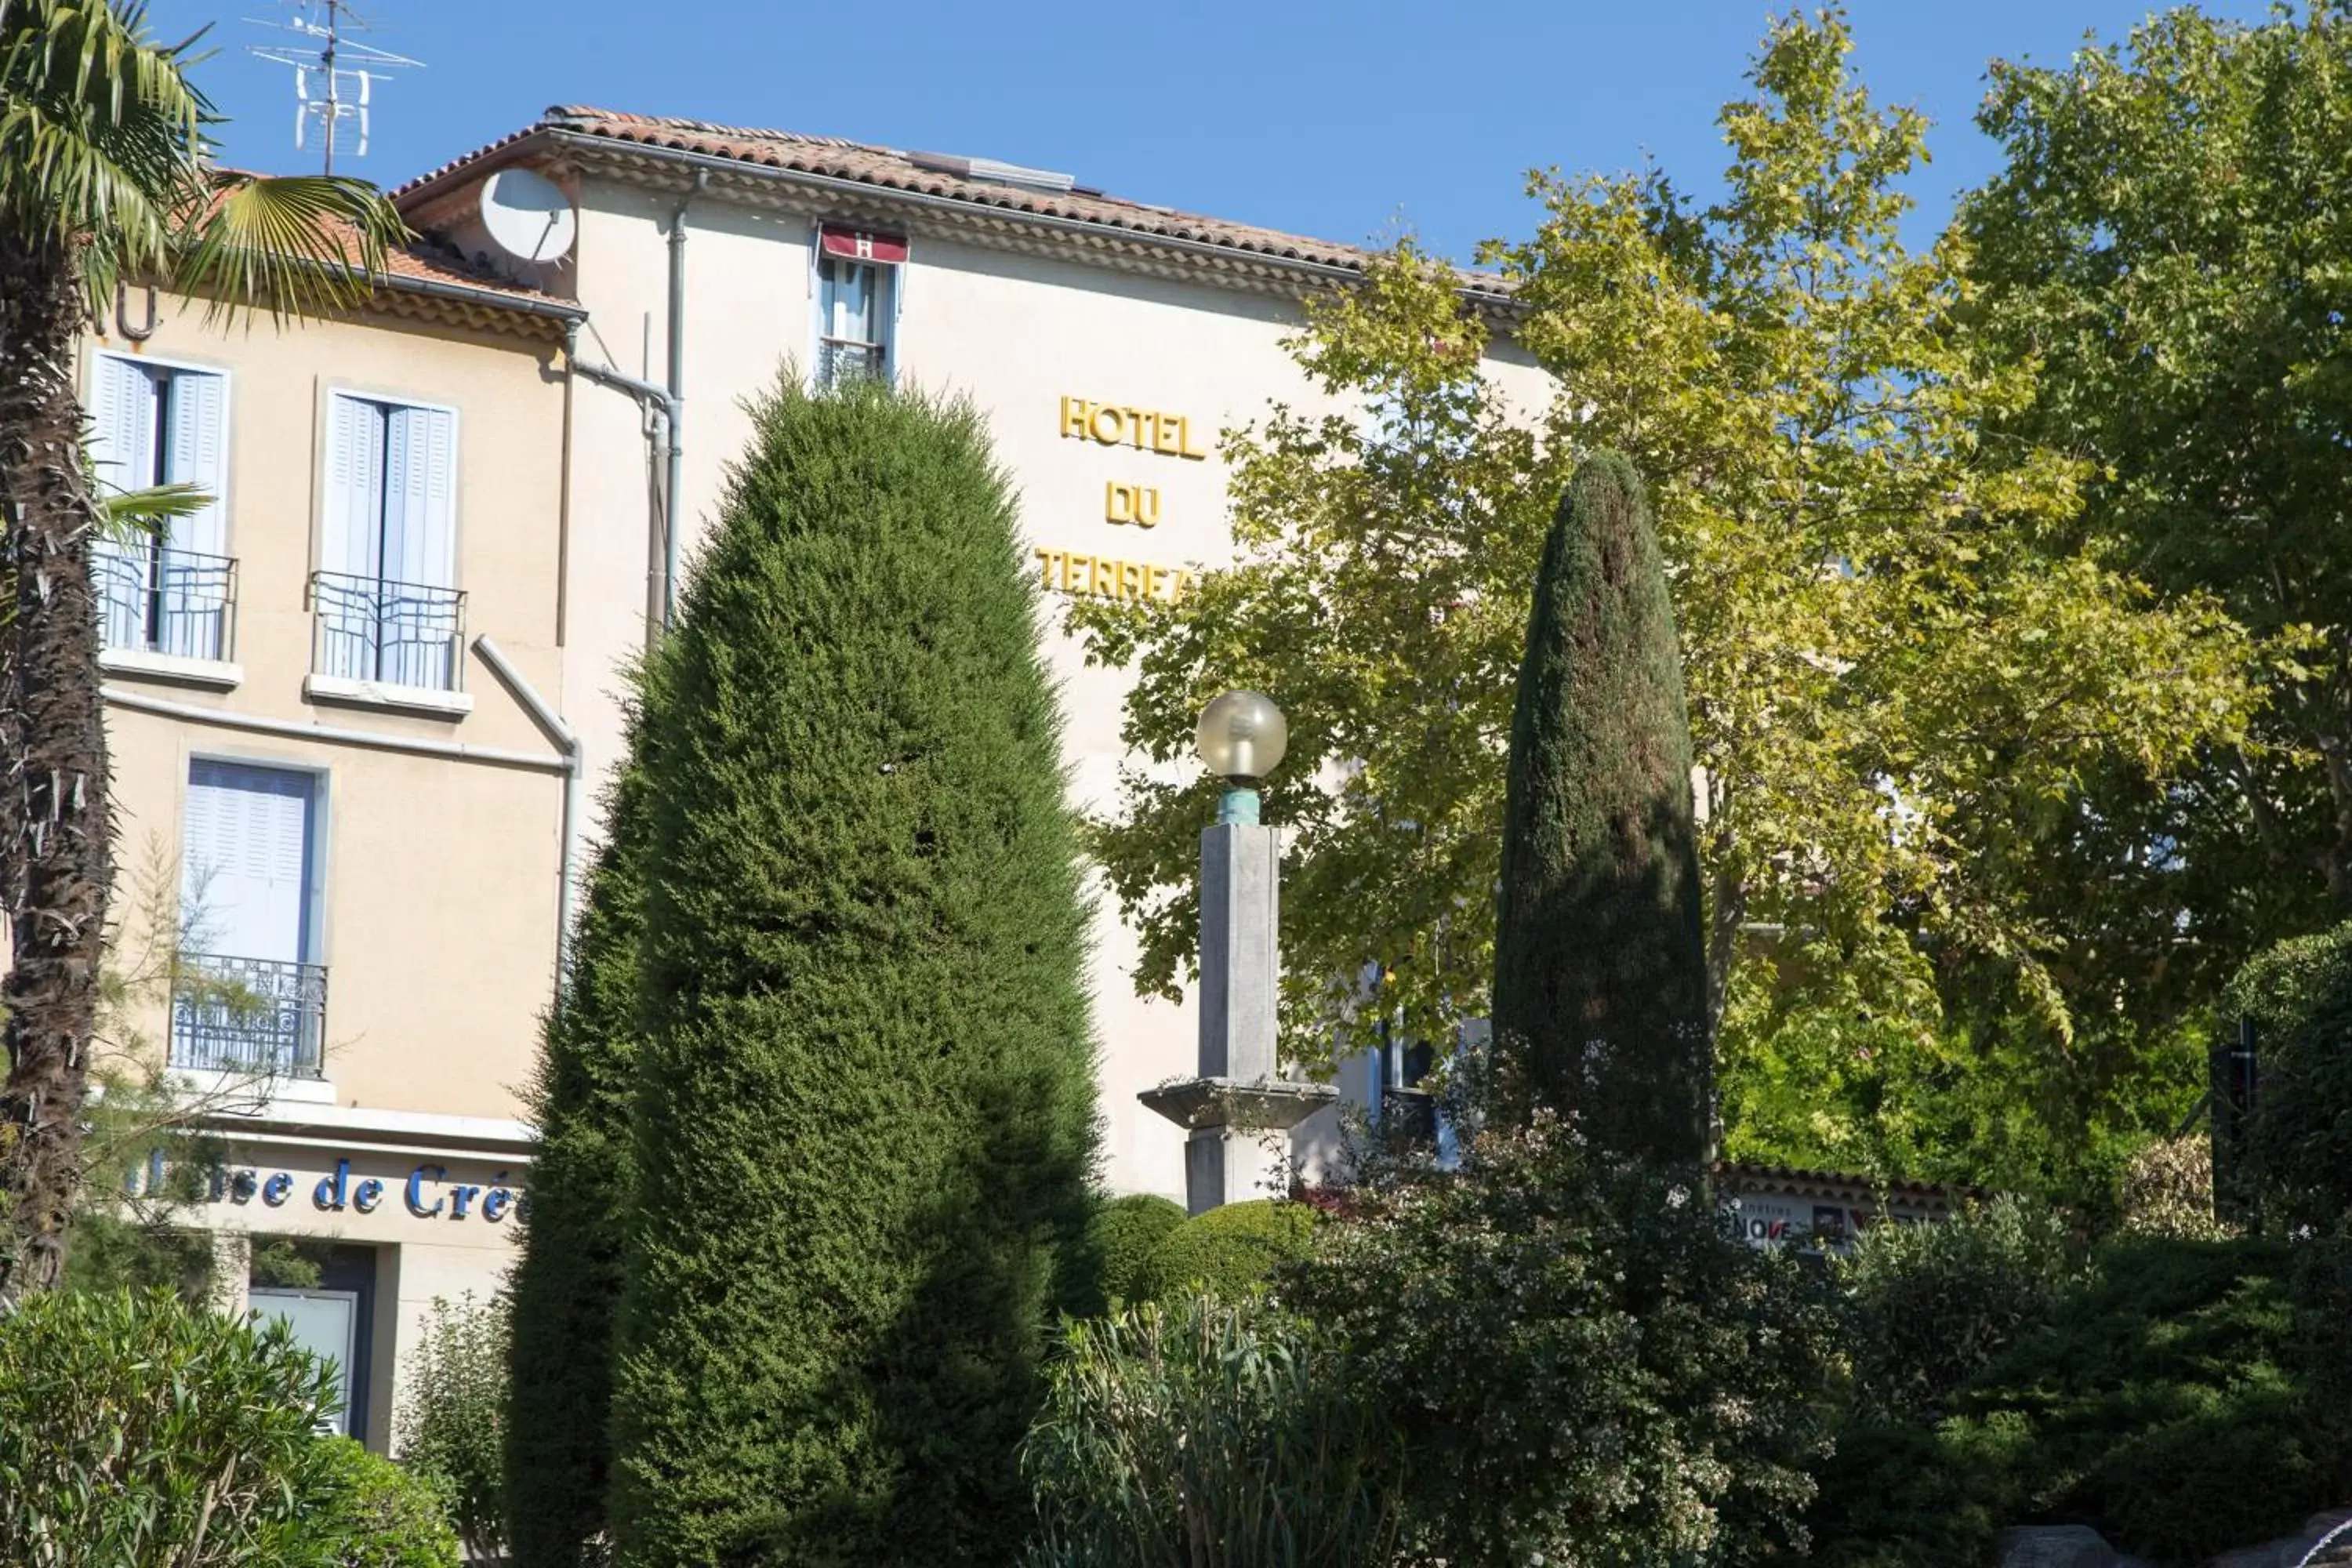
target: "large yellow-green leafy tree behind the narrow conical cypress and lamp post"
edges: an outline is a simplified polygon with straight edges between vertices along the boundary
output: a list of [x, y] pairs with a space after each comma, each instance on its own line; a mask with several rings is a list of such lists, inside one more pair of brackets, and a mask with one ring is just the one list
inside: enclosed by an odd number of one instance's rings
[[[2159, 1095], [2185, 1110], [2178, 1072], [2140, 1086], [2159, 1046], [2105, 1027], [2143, 1020], [2152, 969], [2178, 961], [2173, 926], [2107, 898], [2154, 835], [2110, 832], [2084, 799], [2161, 797], [2239, 736], [2244, 646], [2209, 599], [2152, 599], [2067, 534], [2084, 470], [2063, 442], [1983, 440], [2032, 402], [2030, 367], [1959, 331], [1962, 249], [1900, 244], [1924, 122], [1867, 99], [1849, 45], [1837, 12], [1771, 28], [1708, 207], [1686, 172], [1538, 183], [1538, 233], [1498, 259], [1557, 404], [1512, 407], [1458, 273], [1404, 247], [1294, 343], [1338, 407], [1228, 440], [1240, 559], [1174, 607], [1075, 607], [1091, 656], [1136, 670], [1127, 733], [1152, 762], [1188, 755], [1188, 715], [1223, 686], [1291, 715], [1265, 795], [1291, 1058], [1367, 1044], [1378, 1018], [1329, 983], [1367, 959], [1409, 1039], [1486, 1016], [1529, 590], [1573, 463], [1606, 447], [1649, 484], [1675, 585], [1726, 1086], [1804, 1079], [1811, 1058], [1745, 1072], [1795, 1060], [1790, 1020], [1867, 1018], [1875, 1065], [1832, 1107], [1851, 1121], [1879, 1091], [1898, 1121], [1929, 1114], [1936, 1058], [1978, 1048], [2006, 1060], [1957, 1131], [1994, 1152], [2020, 1128], [2051, 1128], [2032, 1159], [2079, 1126], [2140, 1138], [2166, 1124]], [[1098, 832], [1145, 990], [1192, 959], [1211, 792], [1136, 769]], [[2060, 856], [2098, 870], [2053, 877]], [[1726, 1095], [1733, 1143], [1745, 1117]]]

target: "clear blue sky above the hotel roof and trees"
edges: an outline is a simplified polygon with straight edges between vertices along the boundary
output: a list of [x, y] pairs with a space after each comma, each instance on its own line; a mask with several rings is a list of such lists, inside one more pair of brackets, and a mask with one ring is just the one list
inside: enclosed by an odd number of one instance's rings
[[[374, 136], [348, 169], [400, 183], [595, 103], [776, 125], [903, 150], [1063, 169], [1115, 195], [1378, 240], [1397, 226], [1468, 256], [1524, 233], [1534, 165], [1623, 169], [1653, 153], [1684, 186], [1722, 167], [1717, 106], [1773, 9], [1743, 0], [1623, 5], [1489, 0], [1176, 0], [1054, 5], [896, 0], [362, 0], [367, 42], [426, 61], [376, 87]], [[2263, 5], [2209, 9], [2260, 16]], [[155, 0], [158, 33], [212, 24], [205, 87], [233, 118], [226, 158], [308, 169], [285, 66], [247, 54], [287, 0]], [[1872, 92], [1936, 120], [1915, 237], [1983, 179], [1971, 115], [1990, 56], [2063, 61], [2122, 38], [2145, 0], [1858, 0]]]

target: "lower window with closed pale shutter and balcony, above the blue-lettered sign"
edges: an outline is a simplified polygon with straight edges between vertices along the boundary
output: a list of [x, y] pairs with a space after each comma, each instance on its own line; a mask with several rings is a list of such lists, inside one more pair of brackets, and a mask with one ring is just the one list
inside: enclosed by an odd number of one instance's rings
[[318, 776], [188, 764], [172, 1065], [320, 1077]]

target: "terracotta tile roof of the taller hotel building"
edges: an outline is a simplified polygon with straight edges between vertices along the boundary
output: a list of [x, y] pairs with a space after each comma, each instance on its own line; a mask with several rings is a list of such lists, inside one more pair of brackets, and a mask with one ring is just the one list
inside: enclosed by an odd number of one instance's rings
[[[1289, 235], [1275, 228], [1258, 228], [1254, 223], [1228, 223], [1225, 219], [1204, 219], [1185, 212], [1174, 212], [1169, 207], [1152, 207], [1148, 202], [1131, 202], [1115, 195], [1103, 195], [1101, 190], [1087, 190], [1084, 186], [1073, 190], [1037, 190], [1030, 186], [1009, 186], [990, 179], [967, 179], [948, 169], [927, 167], [931, 155], [901, 153], [894, 148], [866, 146], [858, 141], [844, 141], [840, 136], [809, 136], [802, 132], [779, 132], [779, 129], [750, 129], [739, 125], [713, 125], [708, 120], [684, 120], [675, 115], [630, 115], [609, 108], [588, 106], [555, 106], [548, 108], [539, 125], [520, 129], [510, 136], [501, 136], [485, 148], [466, 153], [430, 174], [423, 174], [407, 186], [400, 186], [393, 197], [409, 197], [421, 193], [449, 174], [456, 174], [475, 162], [492, 158], [494, 153], [515, 146], [529, 136], [543, 132], [572, 132], [579, 136], [600, 136], [607, 141], [635, 143], [647, 148], [666, 148], [677, 153], [696, 153], [703, 158], [724, 158], [764, 169], [788, 169], [797, 174], [816, 174], [826, 179], [844, 179], [863, 186], [875, 186], [882, 190], [903, 190], [913, 195], [941, 197], [953, 202], [969, 202], [974, 207], [993, 207], [1009, 214], [1025, 214], [1040, 219], [1061, 219], [1073, 223], [1089, 223], [1101, 228], [1127, 230], [1145, 240], [1181, 240], [1190, 244], [1211, 244], [1251, 256], [1265, 256], [1272, 261], [1296, 261], [1317, 268], [1338, 268], [1348, 273], [1362, 273], [1371, 261], [1374, 252], [1355, 244], [1336, 244], [1329, 240], [1308, 240], [1303, 235]], [[960, 160], [938, 160], [960, 162]], [[1463, 287], [1477, 289], [1482, 294], [1508, 294], [1508, 284], [1491, 273], [1463, 273]]]

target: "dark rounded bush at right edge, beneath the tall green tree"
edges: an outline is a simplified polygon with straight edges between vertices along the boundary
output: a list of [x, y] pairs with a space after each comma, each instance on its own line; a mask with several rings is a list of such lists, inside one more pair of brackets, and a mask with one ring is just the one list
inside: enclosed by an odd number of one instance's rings
[[2352, 1215], [2352, 922], [2279, 943], [2230, 985], [2260, 1030], [2246, 1152], [2265, 1218], [2333, 1229]]

